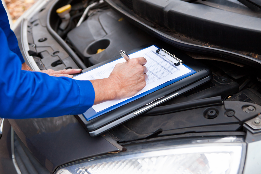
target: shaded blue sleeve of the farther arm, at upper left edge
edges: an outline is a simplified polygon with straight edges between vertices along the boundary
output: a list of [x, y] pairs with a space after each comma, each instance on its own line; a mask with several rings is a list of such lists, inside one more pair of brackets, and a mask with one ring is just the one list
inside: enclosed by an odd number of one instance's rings
[[2, 1], [0, 3], [0, 28], [3, 29], [3, 32], [5, 33], [5, 36], [7, 38], [9, 49], [17, 54], [17, 56], [20, 58], [21, 63], [24, 63], [25, 60], [23, 59], [22, 53], [18, 47], [17, 38], [14, 34], [14, 32], [11, 30], [7, 13], [4, 9], [4, 6], [2, 4]]

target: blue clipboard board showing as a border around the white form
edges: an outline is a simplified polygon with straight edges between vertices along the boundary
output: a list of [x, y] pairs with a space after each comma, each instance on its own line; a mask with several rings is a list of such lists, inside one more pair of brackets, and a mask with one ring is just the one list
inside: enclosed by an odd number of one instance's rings
[[[155, 47], [157, 47], [156, 45], [154, 45]], [[150, 46], [149, 46], [150, 47]], [[148, 47], [146, 47], [146, 48], [148, 48]], [[146, 48], [144, 48], [144, 49], [146, 49]], [[157, 47], [158, 49], [159, 49], [159, 47]], [[143, 49], [141, 49], [141, 50], [143, 50]], [[139, 51], [141, 51], [141, 50], [139, 50]], [[138, 51], [136, 51], [136, 52], [138, 52]], [[134, 52], [135, 53], [135, 52]], [[120, 59], [120, 58], [119, 58]], [[116, 60], [118, 60], [118, 59], [116, 59]], [[114, 60], [114, 61], [116, 61], [116, 60]], [[113, 61], [112, 61], [113, 62]], [[148, 94], [150, 94], [150, 93], [152, 93], [152, 92], [155, 92], [155, 91], [157, 91], [157, 90], [159, 90], [159, 89], [161, 89], [161, 88], [164, 88], [164, 87], [166, 87], [166, 86], [168, 86], [168, 85], [170, 85], [170, 84], [172, 84], [172, 83], [175, 83], [175, 82], [177, 82], [177, 81], [179, 81], [179, 80], [181, 80], [181, 79], [184, 79], [184, 78], [186, 78], [186, 77], [188, 77], [188, 76], [190, 76], [190, 75], [193, 75], [193, 74], [195, 74], [196, 73], [196, 71], [194, 71], [193, 69], [191, 69], [190, 67], [188, 67], [187, 65], [185, 65], [185, 64], [183, 64], [185, 67], [187, 67], [189, 70], [191, 70], [191, 72], [189, 72], [189, 73], [187, 73], [187, 74], [185, 74], [185, 75], [182, 75], [182, 76], [180, 76], [180, 77], [177, 77], [176, 79], [173, 79], [173, 80], [170, 80], [170, 81], [168, 81], [168, 82], [165, 82], [165, 83], [163, 83], [162, 85], [159, 85], [159, 86], [157, 86], [157, 87], [155, 87], [155, 88], [153, 88], [153, 89], [150, 89], [150, 90], [148, 90], [148, 91], [146, 91], [146, 92], [144, 92], [144, 93], [141, 93], [141, 94], [139, 94], [139, 95], [136, 95], [136, 96], [134, 96], [134, 97], [132, 97], [132, 98], [130, 98], [130, 99], [128, 99], [128, 100], [125, 100], [125, 101], [123, 101], [123, 102], [121, 102], [121, 103], [118, 103], [118, 104], [116, 104], [116, 105], [113, 105], [113, 106], [111, 106], [111, 107], [108, 107], [107, 109], [104, 109], [104, 110], [102, 110], [102, 111], [100, 111], [100, 112], [95, 112], [94, 111], [94, 109], [91, 107], [91, 108], [89, 108], [84, 114], [83, 114], [83, 116], [85, 117], [85, 119], [87, 120], [87, 121], [90, 121], [90, 120], [92, 120], [92, 119], [94, 119], [94, 118], [96, 118], [96, 117], [99, 117], [99, 116], [101, 116], [101, 115], [103, 115], [103, 114], [105, 114], [105, 113], [107, 113], [107, 112], [109, 112], [109, 111], [112, 111], [112, 110], [114, 110], [114, 109], [117, 109], [118, 107], [120, 107], [120, 106], [123, 106], [123, 105], [125, 105], [125, 104], [128, 104], [128, 103], [130, 103], [130, 102], [132, 102], [132, 101], [134, 101], [134, 100], [137, 100], [137, 99], [139, 99], [139, 98], [141, 98], [141, 97], [144, 97], [145, 95], [148, 95]], [[102, 65], [101, 65], [102, 66]], [[100, 67], [100, 66], [99, 66]], [[96, 67], [96, 68], [98, 68], [98, 67]], [[95, 69], [95, 68], [94, 68]], [[86, 71], [86, 72], [88, 72], [88, 71]], [[85, 73], [86, 73], [85, 72]]]

